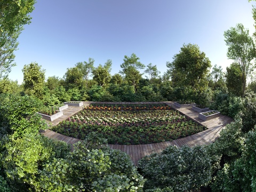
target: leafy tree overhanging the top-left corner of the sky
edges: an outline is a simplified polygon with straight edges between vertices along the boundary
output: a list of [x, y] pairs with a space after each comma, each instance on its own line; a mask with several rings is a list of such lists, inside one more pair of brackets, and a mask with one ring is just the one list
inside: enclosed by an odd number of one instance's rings
[[30, 22], [28, 13], [34, 10], [34, 0], [0, 1], [0, 78], [7, 76], [15, 66], [14, 51], [22, 26]]

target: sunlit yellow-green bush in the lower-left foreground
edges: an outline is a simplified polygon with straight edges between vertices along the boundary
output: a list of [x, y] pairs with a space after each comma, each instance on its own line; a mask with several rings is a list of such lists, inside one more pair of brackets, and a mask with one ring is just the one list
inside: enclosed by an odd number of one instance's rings
[[23, 185], [31, 189], [40, 186], [37, 179], [42, 166], [53, 157], [66, 157], [70, 150], [66, 143], [38, 134], [27, 134], [21, 139], [11, 138], [5, 143], [5, 147], [2, 157], [3, 171], [11, 186], [17, 189]]

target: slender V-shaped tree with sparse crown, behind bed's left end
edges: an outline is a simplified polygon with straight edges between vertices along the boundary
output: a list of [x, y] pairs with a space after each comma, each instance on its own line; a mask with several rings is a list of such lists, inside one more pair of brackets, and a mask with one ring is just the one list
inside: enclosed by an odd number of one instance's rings
[[84, 62], [76, 63], [76, 67], [82, 71], [83, 79], [85, 79], [85, 82], [86, 82], [86, 87], [88, 86], [90, 74], [94, 69], [94, 61], [95, 61], [94, 59], [89, 58], [88, 62], [84, 61]]

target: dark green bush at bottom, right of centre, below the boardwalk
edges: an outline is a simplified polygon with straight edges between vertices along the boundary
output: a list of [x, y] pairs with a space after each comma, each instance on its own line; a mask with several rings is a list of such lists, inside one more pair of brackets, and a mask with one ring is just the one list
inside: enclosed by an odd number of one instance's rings
[[161, 154], [142, 158], [139, 167], [147, 179], [145, 189], [169, 187], [169, 191], [190, 191], [210, 183], [211, 162], [204, 147], [170, 146]]

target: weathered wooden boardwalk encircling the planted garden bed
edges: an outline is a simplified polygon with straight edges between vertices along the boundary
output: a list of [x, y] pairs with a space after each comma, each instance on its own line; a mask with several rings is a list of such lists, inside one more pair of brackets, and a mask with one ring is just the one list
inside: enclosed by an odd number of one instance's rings
[[[84, 106], [90, 105], [90, 103], [109, 103], [109, 104], [129, 104], [130, 102], [84, 102]], [[204, 125], [207, 127], [207, 130], [196, 133], [194, 135], [191, 135], [186, 138], [181, 138], [173, 141], [166, 141], [161, 143], [151, 143], [147, 145], [109, 145], [111, 149], [119, 149], [124, 151], [126, 154], [128, 154], [131, 157], [131, 160], [133, 161], [134, 165], [138, 166], [138, 161], [142, 157], [145, 157], [146, 155], [150, 155], [152, 153], [161, 153], [166, 147], [168, 146], [178, 146], [181, 147], [183, 145], [187, 146], [195, 146], [195, 145], [207, 145], [211, 142], [214, 142], [216, 138], [219, 137], [220, 131], [229, 123], [233, 121], [232, 118], [220, 115], [217, 118], [211, 119], [209, 121], [202, 121], [198, 118], [198, 113], [191, 108], [177, 108], [173, 105], [173, 102], [135, 102], [137, 104], [147, 104], [147, 103], [166, 103], [167, 105], [170, 105], [172, 108], [177, 109], [180, 111], [180, 113], [188, 116], [189, 118], [193, 119], [193, 121]], [[65, 109], [63, 111], [63, 116], [59, 119], [56, 119], [54, 122], [49, 123], [52, 125], [57, 125], [59, 122], [65, 120], [71, 115], [74, 115], [78, 111], [82, 110], [83, 107], [69, 107], [68, 109]], [[58, 139], [60, 141], [65, 141], [71, 146], [73, 146], [74, 143], [80, 141], [75, 138], [67, 137], [65, 135], [53, 132], [51, 130], [45, 130], [43, 133], [46, 137]]]

